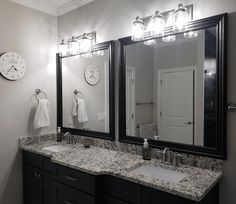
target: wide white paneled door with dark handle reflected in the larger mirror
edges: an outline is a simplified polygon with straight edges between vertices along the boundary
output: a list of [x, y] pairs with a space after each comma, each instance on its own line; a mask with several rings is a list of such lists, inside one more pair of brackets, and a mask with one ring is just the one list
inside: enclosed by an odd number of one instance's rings
[[159, 136], [162, 140], [193, 144], [194, 71], [158, 71]]

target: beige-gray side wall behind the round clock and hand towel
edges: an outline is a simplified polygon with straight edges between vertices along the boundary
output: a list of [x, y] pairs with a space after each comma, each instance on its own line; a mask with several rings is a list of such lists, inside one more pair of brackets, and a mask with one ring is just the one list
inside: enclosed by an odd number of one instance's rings
[[[0, 203], [22, 203], [21, 154], [18, 138], [54, 132], [56, 126], [55, 52], [57, 19], [0, 0], [0, 53], [20, 53], [27, 65], [25, 77], [8, 81], [0, 76]], [[32, 129], [36, 88], [44, 90], [52, 105], [51, 127]]]

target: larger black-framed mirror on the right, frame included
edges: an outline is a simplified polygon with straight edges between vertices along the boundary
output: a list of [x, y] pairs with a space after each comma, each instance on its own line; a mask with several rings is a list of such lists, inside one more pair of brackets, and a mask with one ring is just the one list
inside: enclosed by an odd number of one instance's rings
[[227, 14], [119, 39], [119, 140], [226, 159]]

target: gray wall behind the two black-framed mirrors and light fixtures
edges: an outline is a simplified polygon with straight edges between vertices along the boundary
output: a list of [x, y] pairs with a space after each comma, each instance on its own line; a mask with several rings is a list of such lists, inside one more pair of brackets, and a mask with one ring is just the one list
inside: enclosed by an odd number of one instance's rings
[[[204, 18], [224, 12], [229, 13], [228, 34], [228, 101], [236, 101], [236, 2], [235, 0], [183, 0], [194, 4], [194, 18]], [[97, 31], [98, 40], [115, 40], [130, 35], [131, 22], [137, 16], [151, 15], [155, 10], [166, 11], [176, 7], [177, 0], [96, 0], [95, 2], [74, 10], [58, 18], [58, 39], [70, 37], [83, 32]], [[118, 79], [116, 79], [118, 85]], [[117, 87], [117, 86], [116, 86]], [[118, 92], [116, 92], [118, 93]], [[118, 113], [118, 96], [116, 95], [116, 113]], [[116, 114], [118, 115], [118, 114]], [[228, 114], [228, 159], [224, 162], [224, 179], [220, 185], [221, 204], [236, 203], [236, 114]], [[117, 124], [118, 125], [118, 124]], [[116, 130], [116, 137], [118, 131]]]

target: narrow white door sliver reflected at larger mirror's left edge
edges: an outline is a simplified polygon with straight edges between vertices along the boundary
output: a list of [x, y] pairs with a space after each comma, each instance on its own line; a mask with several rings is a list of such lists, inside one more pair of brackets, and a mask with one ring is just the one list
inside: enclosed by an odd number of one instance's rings
[[135, 135], [135, 67], [126, 66], [126, 135]]

